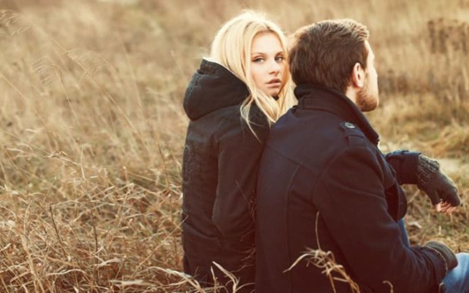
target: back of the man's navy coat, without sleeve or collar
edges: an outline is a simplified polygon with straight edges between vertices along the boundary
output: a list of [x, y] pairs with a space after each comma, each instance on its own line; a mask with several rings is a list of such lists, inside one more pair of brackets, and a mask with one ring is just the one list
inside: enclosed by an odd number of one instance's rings
[[[306, 247], [317, 247], [317, 208], [312, 204], [308, 191], [317, 182], [324, 161], [330, 159], [328, 157], [337, 152], [343, 143], [336, 139], [337, 135], [343, 135], [337, 133], [340, 129], [331, 128], [330, 122], [316, 127], [316, 122], [323, 115], [311, 116], [305, 111], [309, 110], [288, 112], [278, 122], [278, 127], [272, 128], [261, 161], [257, 235], [258, 247], [260, 245], [263, 249], [257, 249], [257, 260], [271, 271], [265, 275], [262, 269], [259, 270], [256, 285], [262, 289], [257, 289], [257, 292], [289, 292], [285, 291], [286, 288], [295, 288], [294, 284], [301, 284], [302, 280], [318, 274], [317, 270], [304, 268], [304, 263], [298, 264], [302, 267], [298, 275], [284, 274], [283, 271], [294, 263], [301, 252], [306, 251]], [[327, 114], [324, 116], [327, 120], [335, 118]], [[339, 126], [339, 123], [335, 124]], [[264, 235], [268, 235], [267, 238]], [[272, 235], [276, 237], [270, 237]], [[270, 255], [275, 255], [277, 259], [270, 258]]]

